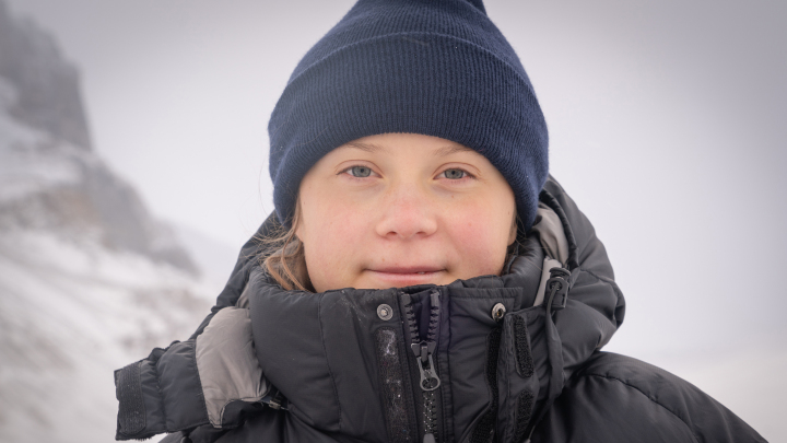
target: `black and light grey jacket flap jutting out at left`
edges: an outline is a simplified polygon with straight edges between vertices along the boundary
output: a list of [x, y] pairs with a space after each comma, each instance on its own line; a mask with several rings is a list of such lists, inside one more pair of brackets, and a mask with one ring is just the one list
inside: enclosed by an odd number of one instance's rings
[[146, 439], [203, 424], [234, 428], [249, 413], [244, 405], [267, 394], [248, 310], [225, 307], [205, 323], [196, 339], [156, 348], [148, 359], [116, 372], [116, 439]]

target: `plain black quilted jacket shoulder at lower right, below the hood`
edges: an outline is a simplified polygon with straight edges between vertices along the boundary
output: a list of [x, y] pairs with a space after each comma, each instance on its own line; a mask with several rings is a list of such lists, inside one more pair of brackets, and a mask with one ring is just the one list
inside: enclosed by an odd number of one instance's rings
[[629, 357], [596, 352], [568, 381], [532, 441], [765, 440], [727, 408], [667, 371]]

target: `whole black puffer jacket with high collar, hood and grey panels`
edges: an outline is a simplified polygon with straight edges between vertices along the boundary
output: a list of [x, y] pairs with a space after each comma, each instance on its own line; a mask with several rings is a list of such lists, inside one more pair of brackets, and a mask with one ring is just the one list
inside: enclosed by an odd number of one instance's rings
[[502, 277], [444, 287], [284, 291], [250, 241], [191, 339], [116, 372], [117, 438], [764, 441], [689, 383], [599, 351], [624, 314], [612, 267], [554, 179], [540, 199]]

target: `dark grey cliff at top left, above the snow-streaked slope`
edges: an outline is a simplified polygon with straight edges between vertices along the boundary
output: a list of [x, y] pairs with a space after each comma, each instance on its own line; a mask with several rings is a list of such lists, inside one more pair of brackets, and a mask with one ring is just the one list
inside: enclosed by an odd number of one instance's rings
[[79, 73], [55, 40], [31, 21], [13, 20], [0, 2], [0, 77], [16, 86], [10, 114], [52, 138], [91, 149]]

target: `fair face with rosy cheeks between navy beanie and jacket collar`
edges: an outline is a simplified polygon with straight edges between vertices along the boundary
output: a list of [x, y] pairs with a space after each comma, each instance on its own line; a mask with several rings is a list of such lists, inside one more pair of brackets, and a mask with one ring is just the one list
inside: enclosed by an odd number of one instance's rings
[[312, 284], [384, 289], [500, 275], [516, 238], [514, 193], [481, 154], [414, 133], [364, 137], [301, 182]]

